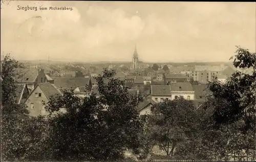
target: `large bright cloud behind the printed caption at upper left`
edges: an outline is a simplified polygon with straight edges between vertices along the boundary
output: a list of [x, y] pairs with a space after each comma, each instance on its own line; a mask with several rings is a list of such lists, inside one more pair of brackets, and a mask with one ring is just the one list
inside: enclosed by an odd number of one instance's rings
[[[37, 11], [17, 10], [17, 5], [36, 6]], [[94, 48], [112, 42], [136, 40], [143, 35], [153, 35], [167, 29], [164, 22], [155, 15], [141, 19], [136, 13], [126, 15], [121, 9], [89, 6], [87, 11], [83, 12], [82, 19], [82, 11], [78, 11], [75, 7], [72, 11], [40, 11], [39, 6], [49, 9], [53, 4], [49, 1], [11, 2], [3, 6], [4, 14], [1, 14], [1, 19], [19, 24], [15, 35], [19, 36], [20, 41], [73, 40], [81, 46], [80, 48]]]

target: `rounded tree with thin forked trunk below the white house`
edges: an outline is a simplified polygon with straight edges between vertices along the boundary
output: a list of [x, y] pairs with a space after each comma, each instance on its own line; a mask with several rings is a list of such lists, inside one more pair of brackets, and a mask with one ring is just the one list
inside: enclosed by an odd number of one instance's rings
[[155, 127], [155, 139], [166, 155], [173, 156], [178, 144], [193, 139], [197, 126], [192, 101], [165, 100], [153, 106], [151, 122]]

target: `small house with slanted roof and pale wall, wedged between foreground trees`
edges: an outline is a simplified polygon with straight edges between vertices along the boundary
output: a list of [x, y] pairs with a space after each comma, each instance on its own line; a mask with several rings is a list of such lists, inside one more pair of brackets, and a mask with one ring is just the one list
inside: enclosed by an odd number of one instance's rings
[[137, 106], [137, 110], [140, 115], [151, 114], [151, 108], [154, 104], [156, 104], [155, 101], [153, 101], [151, 98], [147, 98], [139, 103], [139, 105]]

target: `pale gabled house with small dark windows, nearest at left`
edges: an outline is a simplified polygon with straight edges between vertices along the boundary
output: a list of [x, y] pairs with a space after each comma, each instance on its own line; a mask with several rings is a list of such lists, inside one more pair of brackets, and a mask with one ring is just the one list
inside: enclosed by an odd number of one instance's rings
[[61, 92], [54, 84], [49, 82], [37, 84], [25, 101], [25, 104], [30, 111], [29, 114], [33, 117], [37, 117], [38, 115], [48, 115], [49, 112], [46, 111], [45, 104], [48, 103], [51, 97], [61, 95]]

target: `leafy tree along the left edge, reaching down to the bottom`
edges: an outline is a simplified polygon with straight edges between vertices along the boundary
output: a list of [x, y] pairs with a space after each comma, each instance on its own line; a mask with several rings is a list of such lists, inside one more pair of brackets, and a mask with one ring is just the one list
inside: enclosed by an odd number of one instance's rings
[[16, 103], [14, 78], [22, 77], [15, 68], [23, 64], [7, 54], [1, 60], [1, 159], [4, 161], [42, 160], [43, 118], [29, 118], [25, 105]]

